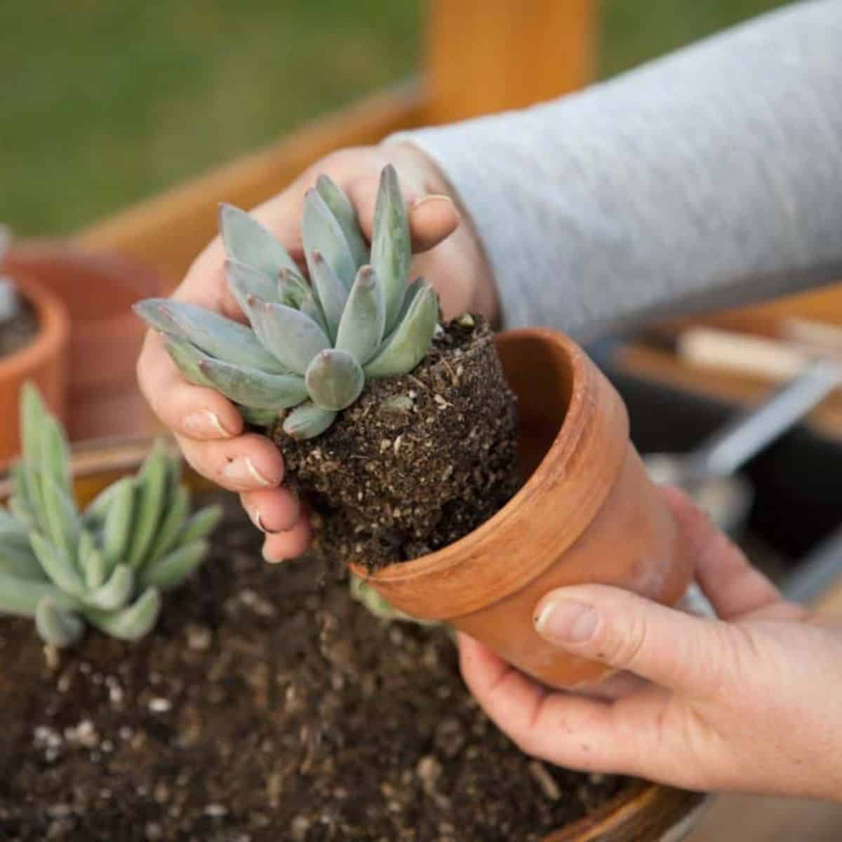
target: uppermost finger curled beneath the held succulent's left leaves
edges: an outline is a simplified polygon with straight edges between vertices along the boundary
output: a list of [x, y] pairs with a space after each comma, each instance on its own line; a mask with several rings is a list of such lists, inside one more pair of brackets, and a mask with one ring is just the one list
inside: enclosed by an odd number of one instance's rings
[[141, 392], [162, 423], [189, 439], [225, 439], [242, 432], [242, 418], [219, 392], [184, 380], [160, 336], [147, 333], [137, 360]]

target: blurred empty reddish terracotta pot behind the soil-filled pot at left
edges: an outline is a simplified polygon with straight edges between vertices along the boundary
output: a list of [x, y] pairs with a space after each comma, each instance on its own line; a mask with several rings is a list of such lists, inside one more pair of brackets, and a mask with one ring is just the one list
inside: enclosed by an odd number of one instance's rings
[[147, 402], [136, 384], [135, 364], [145, 328], [131, 312], [141, 298], [161, 294], [152, 270], [111, 253], [72, 243], [16, 244], [4, 269], [35, 278], [67, 307], [67, 433], [72, 440], [152, 432]]

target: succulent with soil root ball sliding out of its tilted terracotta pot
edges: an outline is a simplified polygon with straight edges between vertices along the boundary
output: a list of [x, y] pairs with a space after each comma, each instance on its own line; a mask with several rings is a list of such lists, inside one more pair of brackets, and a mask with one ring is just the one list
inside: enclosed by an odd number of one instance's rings
[[306, 195], [301, 233], [309, 282], [268, 231], [222, 208], [227, 279], [249, 326], [177, 301], [136, 311], [184, 376], [277, 441], [287, 482], [321, 523], [317, 552], [397, 610], [446, 620], [547, 684], [603, 678], [537, 637], [541, 595], [600, 582], [674, 604], [691, 576], [620, 397], [561, 334], [495, 344], [470, 314], [439, 324], [432, 288], [410, 283], [393, 168], [370, 248], [325, 177]]

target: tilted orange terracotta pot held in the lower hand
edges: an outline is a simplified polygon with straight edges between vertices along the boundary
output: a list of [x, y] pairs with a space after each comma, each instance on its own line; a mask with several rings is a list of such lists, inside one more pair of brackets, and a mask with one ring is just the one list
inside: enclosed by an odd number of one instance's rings
[[690, 553], [629, 441], [621, 397], [584, 351], [541, 329], [504, 333], [498, 349], [518, 396], [523, 487], [470, 535], [368, 582], [396, 608], [448, 621], [547, 685], [582, 688], [606, 669], [536, 635], [538, 600], [600, 583], [674, 605], [690, 584]]

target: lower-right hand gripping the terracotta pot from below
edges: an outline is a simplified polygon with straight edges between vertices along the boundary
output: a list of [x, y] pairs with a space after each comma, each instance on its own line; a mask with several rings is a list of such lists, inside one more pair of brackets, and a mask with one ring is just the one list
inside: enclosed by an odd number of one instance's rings
[[807, 616], [685, 496], [664, 493], [720, 620], [604, 585], [557, 589], [536, 628], [643, 679], [598, 701], [546, 689], [470, 637], [461, 669], [527, 754], [694, 790], [842, 799], [842, 628]]

